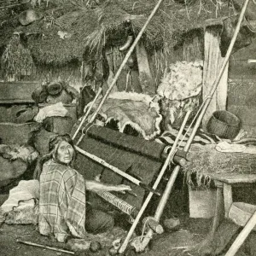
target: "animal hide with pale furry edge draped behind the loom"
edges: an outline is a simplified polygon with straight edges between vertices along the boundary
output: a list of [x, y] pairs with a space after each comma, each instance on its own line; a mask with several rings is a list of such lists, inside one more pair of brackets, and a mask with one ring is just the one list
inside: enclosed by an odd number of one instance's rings
[[[96, 107], [99, 102], [96, 102]], [[154, 102], [148, 95], [114, 92], [104, 102], [100, 114], [106, 123], [111, 119], [118, 120], [120, 132], [125, 130], [126, 125], [131, 125], [147, 140], [160, 134], [160, 107], [158, 102]]]

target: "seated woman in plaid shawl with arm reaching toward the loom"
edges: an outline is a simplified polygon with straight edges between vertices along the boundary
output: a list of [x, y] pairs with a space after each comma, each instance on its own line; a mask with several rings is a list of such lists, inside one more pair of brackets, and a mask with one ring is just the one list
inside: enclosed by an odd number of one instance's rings
[[58, 135], [50, 140], [49, 154], [38, 162], [35, 172], [40, 183], [39, 232], [44, 236], [53, 234], [61, 242], [68, 236], [83, 238], [86, 231], [100, 233], [113, 228], [112, 216], [86, 206], [85, 189], [131, 190], [123, 184], [84, 180], [72, 167], [74, 155], [71, 137]]

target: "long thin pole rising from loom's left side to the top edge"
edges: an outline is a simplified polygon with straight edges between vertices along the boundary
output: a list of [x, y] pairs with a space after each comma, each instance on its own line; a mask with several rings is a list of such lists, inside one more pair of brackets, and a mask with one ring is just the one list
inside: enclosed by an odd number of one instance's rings
[[163, 2], [163, 0], [159, 0], [158, 3], [156, 3], [153, 11], [151, 12], [151, 14], [148, 16], [148, 20], [146, 20], [144, 26], [142, 27], [141, 31], [137, 34], [137, 38], [135, 38], [133, 44], [131, 44], [131, 48], [128, 50], [127, 54], [125, 55], [124, 61], [121, 63], [119, 70], [117, 71], [117, 73], [115, 74], [112, 83], [109, 85], [108, 90], [106, 91], [105, 96], [103, 96], [102, 98], [102, 102], [100, 102], [98, 108], [96, 108], [95, 113], [93, 114], [93, 116], [90, 119], [90, 123], [92, 123], [95, 119], [96, 119], [96, 115], [97, 113], [99, 113], [99, 111], [102, 108], [102, 105], [104, 104], [104, 102], [106, 101], [106, 99], [108, 98], [108, 95], [110, 94], [111, 90], [113, 89], [114, 84], [116, 84], [119, 75], [122, 71], [122, 69], [125, 67], [126, 62], [129, 60], [129, 57], [131, 56], [131, 53], [133, 52], [133, 50], [135, 49], [138, 41], [140, 40], [140, 38], [142, 38], [143, 36], [143, 32], [145, 31], [146, 27], [148, 26], [148, 23], [150, 22], [150, 20], [152, 20], [152, 18], [154, 17], [156, 11], [159, 9], [160, 4]]

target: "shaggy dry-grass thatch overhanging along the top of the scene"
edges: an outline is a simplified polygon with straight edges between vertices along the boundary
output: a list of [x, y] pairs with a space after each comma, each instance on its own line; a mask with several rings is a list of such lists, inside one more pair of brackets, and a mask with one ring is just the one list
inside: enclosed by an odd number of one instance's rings
[[[84, 55], [98, 59], [104, 47], [125, 42], [127, 20], [131, 20], [132, 32], [137, 35], [157, 3], [156, 0], [101, 1], [103, 3], [87, 0], [84, 4], [78, 0], [71, 3], [65, 0], [48, 2], [48, 6], [44, 2], [35, 6], [44, 14], [44, 19], [29, 26], [18, 26], [19, 9], [12, 17], [5, 15], [5, 23], [13, 20], [14, 24], [5, 26], [3, 23], [0, 46], [7, 44], [13, 32], [24, 32], [26, 40], [21, 42], [30, 49], [38, 63], [58, 66], [69, 61], [81, 61]], [[166, 0], [149, 23], [143, 42], [150, 49], [148, 52], [172, 48], [182, 39], [184, 32], [204, 26], [207, 19], [234, 15], [234, 12], [230, 1], [190, 0], [180, 3], [178, 0]], [[61, 38], [60, 32], [66, 33], [66, 37]]]

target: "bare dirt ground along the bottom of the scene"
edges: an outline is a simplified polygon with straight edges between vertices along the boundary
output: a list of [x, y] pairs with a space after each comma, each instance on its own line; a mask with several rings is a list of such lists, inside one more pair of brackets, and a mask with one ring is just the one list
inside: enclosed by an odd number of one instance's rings
[[[150, 249], [142, 255], [191, 255], [183, 252], [187, 247], [193, 246], [206, 236], [209, 229], [209, 221], [203, 219], [189, 220], [183, 217], [183, 222], [179, 230], [172, 233], [165, 233], [154, 238]], [[63, 244], [51, 241], [48, 237], [40, 236], [38, 227], [33, 225], [7, 225], [3, 224], [0, 229], [0, 255], [1, 256], [56, 256], [68, 255], [50, 251], [49, 249], [27, 246], [18, 241], [32, 241], [51, 247], [63, 247]], [[91, 255], [107, 255], [104, 249], [99, 253]], [[88, 253], [86, 254], [88, 255]]]

